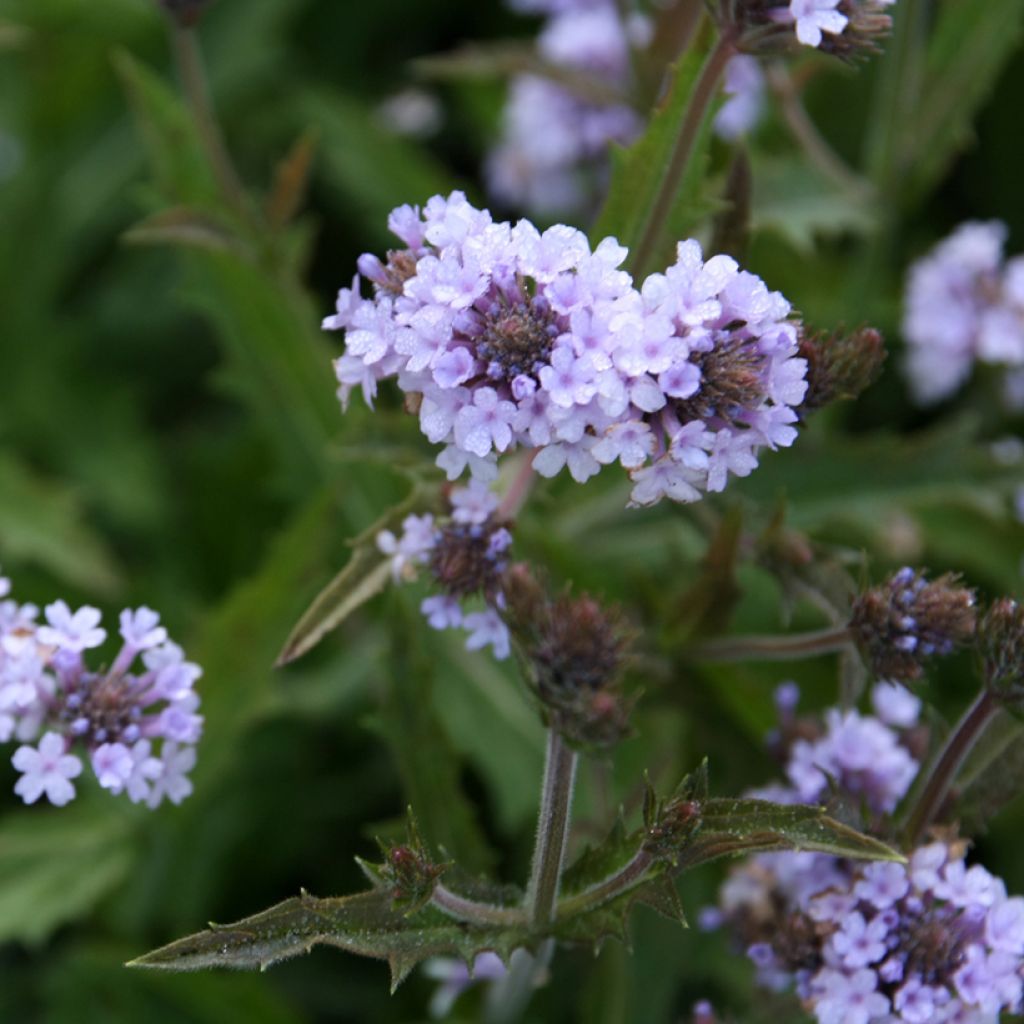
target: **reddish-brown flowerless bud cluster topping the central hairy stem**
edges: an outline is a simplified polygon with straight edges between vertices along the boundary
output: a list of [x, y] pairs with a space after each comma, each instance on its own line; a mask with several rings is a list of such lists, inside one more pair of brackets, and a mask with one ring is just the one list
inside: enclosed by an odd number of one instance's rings
[[505, 584], [506, 618], [552, 728], [580, 746], [616, 743], [632, 711], [621, 688], [628, 640], [616, 616], [586, 594], [550, 599], [521, 564]]

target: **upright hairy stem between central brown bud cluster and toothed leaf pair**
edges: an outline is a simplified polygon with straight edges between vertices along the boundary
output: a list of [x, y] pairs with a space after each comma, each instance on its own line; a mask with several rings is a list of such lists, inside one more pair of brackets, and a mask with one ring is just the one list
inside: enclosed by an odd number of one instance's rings
[[569, 833], [577, 759], [577, 753], [565, 745], [558, 732], [549, 730], [541, 812], [537, 820], [537, 845], [534, 847], [529, 888], [526, 890], [526, 908], [530, 924], [536, 928], [550, 925], [555, 918], [565, 842]]

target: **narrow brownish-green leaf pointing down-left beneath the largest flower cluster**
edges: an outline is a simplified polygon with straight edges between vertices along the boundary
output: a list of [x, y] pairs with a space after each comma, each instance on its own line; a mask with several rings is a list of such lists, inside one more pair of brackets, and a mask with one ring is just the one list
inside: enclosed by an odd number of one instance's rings
[[[282, 652], [279, 667], [294, 662], [336, 630], [356, 608], [366, 604], [387, 586], [391, 560], [377, 547], [377, 536], [393, 529], [417, 506], [430, 504], [429, 492], [416, 485], [401, 504], [396, 505], [364, 530], [352, 542], [352, 557], [345, 567], [316, 595], [313, 603], [292, 630]], [[433, 495], [432, 497], [436, 497]]]

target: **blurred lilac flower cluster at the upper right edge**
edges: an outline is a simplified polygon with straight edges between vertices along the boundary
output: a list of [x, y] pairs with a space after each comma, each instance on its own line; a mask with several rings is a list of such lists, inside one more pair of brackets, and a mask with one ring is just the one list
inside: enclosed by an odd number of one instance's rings
[[1005, 260], [1007, 228], [969, 221], [913, 264], [903, 336], [918, 401], [955, 391], [976, 361], [1024, 367], [1024, 256]]

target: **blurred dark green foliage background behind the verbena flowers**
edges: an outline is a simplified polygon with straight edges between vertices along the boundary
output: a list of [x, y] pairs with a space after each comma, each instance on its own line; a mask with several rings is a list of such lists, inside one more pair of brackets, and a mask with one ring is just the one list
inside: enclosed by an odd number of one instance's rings
[[[751, 268], [815, 326], [882, 328], [893, 355], [880, 383], [699, 507], [627, 513], [612, 473], [536, 493], [520, 556], [648, 626], [637, 733], [610, 770], [586, 767], [578, 847], [621, 802], [636, 814], [644, 769], [668, 785], [707, 754], [720, 794], [769, 778], [780, 679], [810, 706], [836, 699], [829, 658], [697, 670], [679, 653], [733, 600], [738, 630], [821, 623], [799, 587], [755, 564], [776, 514], [812, 545], [818, 582], [911, 562], [1019, 594], [1021, 464], [990, 442], [1021, 420], [985, 376], [915, 412], [898, 324], [907, 262], [961, 220], [1001, 218], [1010, 251], [1024, 249], [1022, 6], [900, 0], [884, 56], [805, 58], [808, 108], [869, 195], [814, 171], [777, 115], [753, 145]], [[150, 813], [88, 785], [69, 808], [23, 808], [0, 768], [5, 1024], [424, 1020], [431, 982], [416, 975], [391, 997], [383, 964], [328, 950], [259, 977], [121, 965], [300, 886], [358, 888], [353, 855], [371, 855], [407, 802], [462, 864], [522, 881], [543, 735], [509, 666], [430, 635], [415, 588], [294, 667], [272, 664], [346, 540], [408, 492], [400, 466], [429, 459], [393, 396], [341, 416], [339, 345], [319, 317], [358, 253], [388, 244], [393, 206], [452, 187], [483, 201], [503, 85], [418, 83], [443, 112], [425, 142], [390, 130], [380, 103], [414, 83], [413, 58], [530, 30], [470, 0], [218, 0], [201, 40], [251, 202], [290, 153], [293, 170], [311, 154], [299, 215], [253, 231], [218, 207], [154, 0], [0, 0], [0, 561], [22, 600], [160, 609], [205, 669], [207, 715], [180, 808]], [[729, 157], [716, 145], [719, 184]], [[933, 675], [940, 716], [958, 713], [972, 678], [967, 657]], [[1022, 824], [1011, 808], [979, 848], [1017, 891]], [[684, 880], [691, 918], [720, 874]], [[562, 952], [531, 1019], [681, 1020], [703, 996], [757, 1017], [751, 972], [723, 938], [639, 911], [633, 939], [632, 955]], [[762, 998], [758, 1019], [787, 1006]]]

